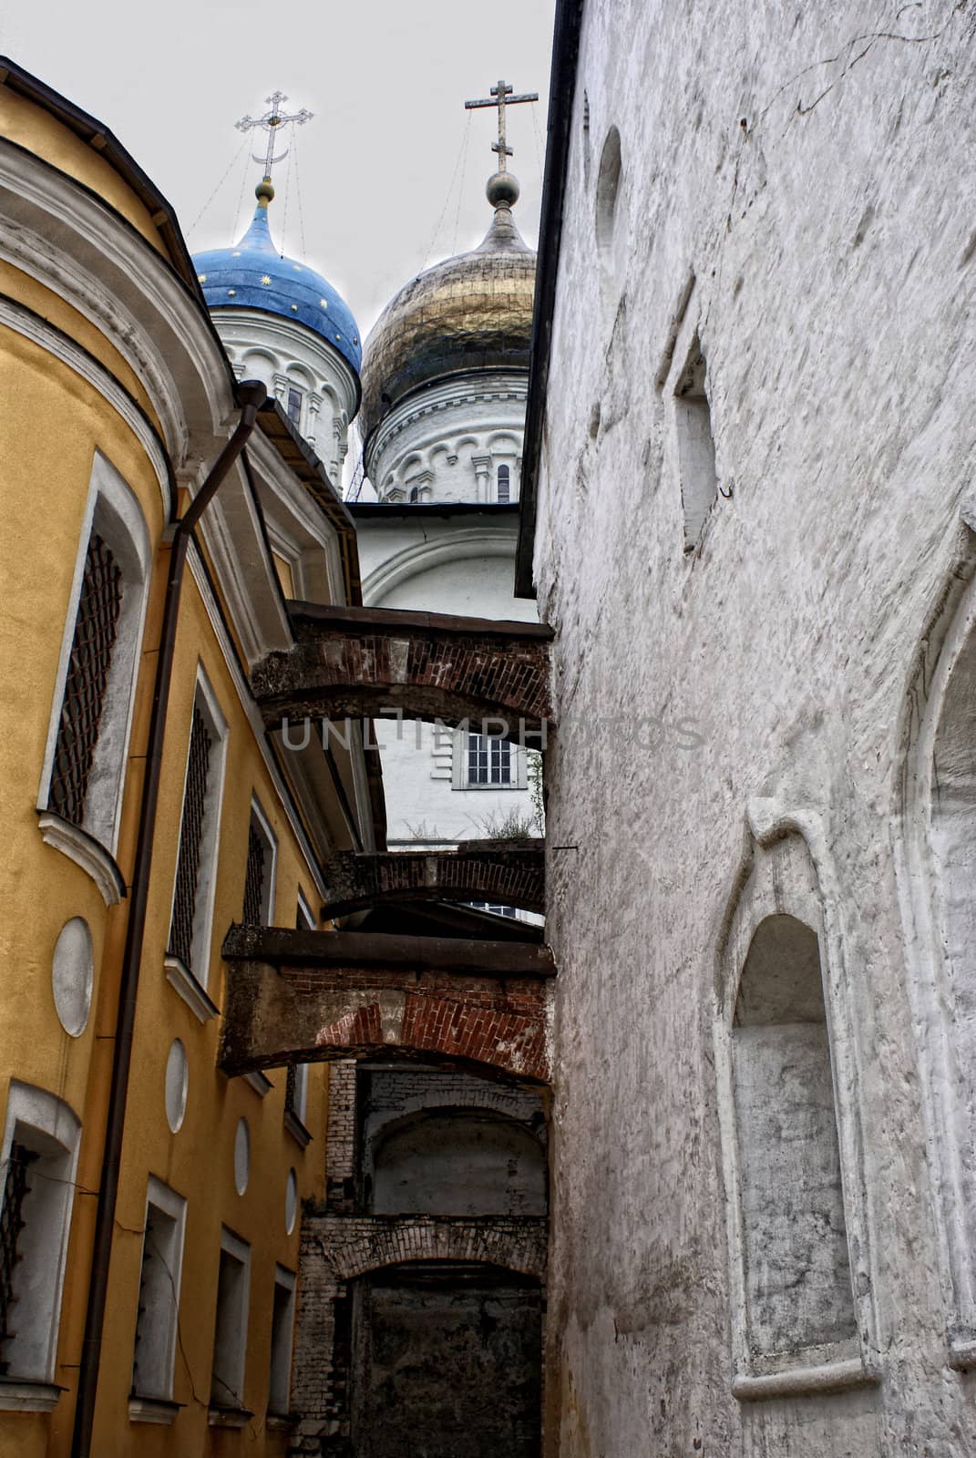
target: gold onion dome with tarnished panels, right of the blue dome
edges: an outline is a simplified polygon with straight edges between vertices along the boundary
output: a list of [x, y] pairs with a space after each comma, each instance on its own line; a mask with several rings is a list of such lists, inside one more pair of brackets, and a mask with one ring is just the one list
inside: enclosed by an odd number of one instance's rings
[[487, 185], [495, 217], [468, 254], [435, 264], [387, 305], [366, 341], [362, 429], [404, 395], [470, 369], [528, 369], [535, 254], [512, 217], [511, 172]]

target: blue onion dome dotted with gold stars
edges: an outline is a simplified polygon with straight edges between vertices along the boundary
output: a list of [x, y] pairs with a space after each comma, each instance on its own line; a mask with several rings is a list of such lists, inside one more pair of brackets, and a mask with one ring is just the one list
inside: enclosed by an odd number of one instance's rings
[[267, 194], [274, 194], [270, 185], [257, 191], [258, 207], [241, 242], [235, 248], [212, 248], [194, 255], [207, 308], [264, 309], [283, 319], [298, 319], [338, 350], [359, 375], [363, 351], [349, 305], [314, 268], [279, 254], [271, 242], [267, 208]]

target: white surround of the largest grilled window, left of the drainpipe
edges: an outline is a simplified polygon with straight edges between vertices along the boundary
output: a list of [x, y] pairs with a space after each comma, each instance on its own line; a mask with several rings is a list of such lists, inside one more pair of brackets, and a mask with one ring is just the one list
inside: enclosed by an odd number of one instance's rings
[[[85, 822], [80, 827], [82, 834], [77, 834], [79, 827], [67, 825], [57, 812], [50, 809], [50, 796], [54, 751], [85, 577], [85, 561], [93, 531], [98, 531], [105, 538], [121, 569], [123, 602], [105, 687], [105, 707], [98, 730], [95, 763], [85, 800]], [[101, 882], [105, 872], [102, 866], [92, 863], [92, 849], [86, 844], [86, 837], [95, 846], [101, 847], [102, 851], [108, 851], [112, 857], [115, 856], [150, 576], [150, 538], [142, 507], [123, 475], [101, 451], [96, 451], [74, 560], [71, 593], [64, 618], [61, 653], [54, 679], [54, 698], [44, 748], [36, 808], [41, 812], [41, 830], [48, 844], [63, 850], [71, 860], [88, 870], [99, 882], [104, 895], [105, 888]], [[117, 901], [118, 898], [118, 895], [111, 897], [111, 900], [106, 897], [106, 901], [111, 904], [111, 901]]]

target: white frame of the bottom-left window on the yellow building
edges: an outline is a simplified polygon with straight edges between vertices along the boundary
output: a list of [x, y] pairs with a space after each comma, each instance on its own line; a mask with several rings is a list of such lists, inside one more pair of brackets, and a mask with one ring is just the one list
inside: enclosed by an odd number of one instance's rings
[[[6, 1177], [13, 1140], [39, 1158], [31, 1194], [25, 1198], [25, 1226], [18, 1241], [20, 1261], [15, 1276], [26, 1280], [26, 1295], [19, 1308], [18, 1334], [6, 1347], [10, 1362], [7, 1381], [54, 1382], [57, 1341], [61, 1325], [61, 1292], [74, 1207], [74, 1177], [82, 1142], [82, 1123], [69, 1105], [31, 1083], [10, 1080], [7, 1115], [3, 1130], [3, 1175]], [[31, 1184], [32, 1175], [28, 1175]], [[3, 1181], [0, 1181], [0, 1191]], [[25, 1295], [22, 1292], [22, 1295]], [[0, 1407], [7, 1406], [0, 1397]], [[23, 1407], [25, 1401], [18, 1401]], [[50, 1407], [41, 1398], [29, 1406]]]

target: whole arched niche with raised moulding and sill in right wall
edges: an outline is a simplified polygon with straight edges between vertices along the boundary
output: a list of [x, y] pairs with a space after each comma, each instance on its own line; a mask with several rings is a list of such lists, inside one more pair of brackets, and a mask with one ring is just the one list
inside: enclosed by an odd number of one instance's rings
[[[750, 806], [716, 961], [732, 1391], [877, 1376], [858, 1076], [839, 929], [801, 821]], [[820, 857], [826, 850], [820, 847]]]

